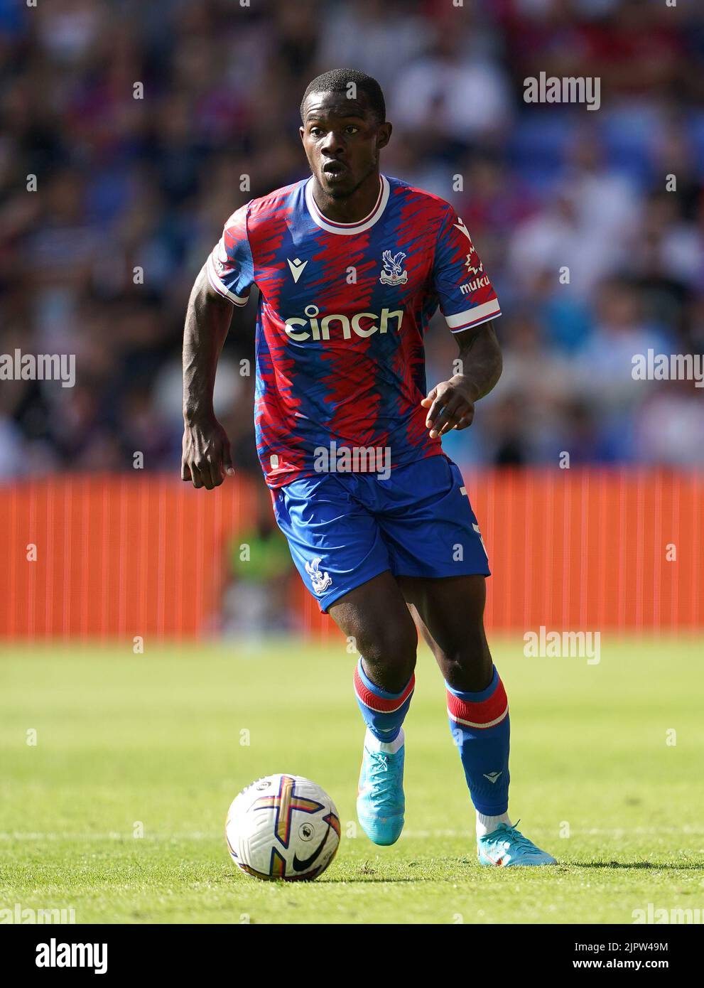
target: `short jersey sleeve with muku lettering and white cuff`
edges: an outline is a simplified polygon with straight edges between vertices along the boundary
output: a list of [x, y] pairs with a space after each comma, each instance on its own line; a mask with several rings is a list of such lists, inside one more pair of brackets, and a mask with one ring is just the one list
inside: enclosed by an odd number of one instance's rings
[[469, 231], [449, 207], [437, 236], [432, 281], [453, 333], [472, 329], [502, 314]]

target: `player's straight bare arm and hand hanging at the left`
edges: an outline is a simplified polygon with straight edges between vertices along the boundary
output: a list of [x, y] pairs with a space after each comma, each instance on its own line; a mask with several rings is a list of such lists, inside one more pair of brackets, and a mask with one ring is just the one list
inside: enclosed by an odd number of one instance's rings
[[212, 490], [233, 473], [230, 443], [215, 418], [212, 389], [232, 305], [214, 291], [203, 267], [191, 291], [184, 328], [184, 450], [181, 479]]

